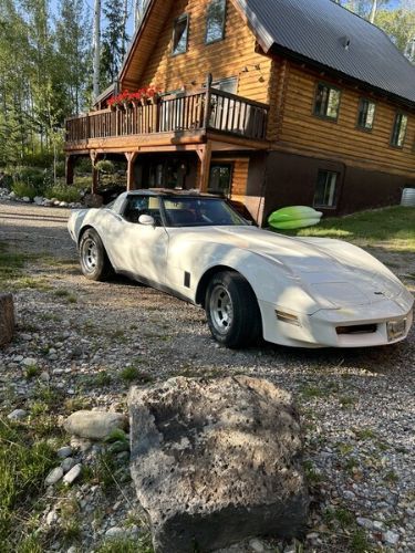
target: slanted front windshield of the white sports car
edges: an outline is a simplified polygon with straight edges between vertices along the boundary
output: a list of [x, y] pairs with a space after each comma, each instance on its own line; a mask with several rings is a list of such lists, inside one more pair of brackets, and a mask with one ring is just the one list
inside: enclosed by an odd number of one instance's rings
[[163, 198], [167, 227], [247, 226], [220, 198]]

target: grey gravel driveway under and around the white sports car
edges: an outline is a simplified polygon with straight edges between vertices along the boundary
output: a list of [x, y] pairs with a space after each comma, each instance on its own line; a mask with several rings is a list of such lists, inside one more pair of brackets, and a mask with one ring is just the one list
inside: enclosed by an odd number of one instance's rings
[[[24, 376], [28, 357], [66, 399], [112, 409], [124, 404], [129, 380], [241, 373], [268, 378], [292, 392], [302, 415], [313, 499], [304, 551], [415, 551], [414, 330], [406, 342], [380, 348], [264, 344], [229, 351], [211, 340], [195, 306], [126, 280], [84, 279], [68, 216], [65, 209], [0, 201], [0, 242], [32, 254], [28, 286], [23, 282], [14, 296], [19, 333], [0, 353], [2, 413], [24, 408], [39, 385]], [[414, 254], [394, 255], [396, 267], [415, 261]], [[87, 488], [79, 493], [85, 505], [100, 501]], [[94, 530], [85, 519], [82, 551], [123, 525], [126, 510], [118, 502]], [[295, 551], [295, 544], [271, 545]], [[276, 551], [271, 545], [259, 541], [235, 551]]]

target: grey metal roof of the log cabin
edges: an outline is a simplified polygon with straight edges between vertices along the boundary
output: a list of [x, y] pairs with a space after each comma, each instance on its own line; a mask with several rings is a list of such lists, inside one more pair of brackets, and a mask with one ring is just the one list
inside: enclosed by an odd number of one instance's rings
[[232, 1], [266, 52], [291, 52], [415, 102], [415, 66], [381, 29], [332, 0]]

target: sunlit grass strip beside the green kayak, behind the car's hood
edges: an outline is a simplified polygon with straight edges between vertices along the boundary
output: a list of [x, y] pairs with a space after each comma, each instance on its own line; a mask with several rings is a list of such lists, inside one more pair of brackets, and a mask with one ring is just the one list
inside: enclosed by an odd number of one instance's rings
[[346, 217], [323, 218], [317, 227], [278, 231], [290, 236], [338, 238], [359, 246], [376, 246], [415, 252], [415, 208], [390, 207]]

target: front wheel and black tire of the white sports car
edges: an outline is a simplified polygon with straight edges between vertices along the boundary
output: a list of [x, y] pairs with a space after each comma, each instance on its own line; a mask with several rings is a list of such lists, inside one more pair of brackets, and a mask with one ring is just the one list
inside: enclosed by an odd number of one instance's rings
[[237, 272], [215, 274], [206, 291], [205, 311], [210, 332], [219, 344], [239, 348], [258, 342], [262, 334], [257, 298]]

